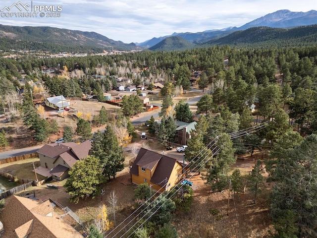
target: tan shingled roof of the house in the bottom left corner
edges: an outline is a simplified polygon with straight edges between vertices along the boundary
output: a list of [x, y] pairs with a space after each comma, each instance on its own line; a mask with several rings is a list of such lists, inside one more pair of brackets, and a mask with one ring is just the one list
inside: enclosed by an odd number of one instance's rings
[[[83, 238], [54, 211], [55, 204], [11, 196], [0, 213], [4, 235], [1, 238]], [[67, 219], [69, 215], [66, 215]]]

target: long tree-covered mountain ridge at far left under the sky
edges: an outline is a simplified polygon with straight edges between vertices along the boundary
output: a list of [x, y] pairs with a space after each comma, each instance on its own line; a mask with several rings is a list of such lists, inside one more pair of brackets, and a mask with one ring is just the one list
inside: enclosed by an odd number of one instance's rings
[[0, 25], [0, 50], [101, 53], [104, 50], [134, 50], [135, 44], [111, 40], [96, 32], [55, 27]]

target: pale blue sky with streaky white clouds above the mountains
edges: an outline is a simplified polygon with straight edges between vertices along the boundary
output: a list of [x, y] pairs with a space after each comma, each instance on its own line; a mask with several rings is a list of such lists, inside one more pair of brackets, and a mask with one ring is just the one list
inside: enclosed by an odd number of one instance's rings
[[[1, 0], [0, 10], [19, 0]], [[141, 43], [174, 32], [202, 32], [240, 27], [256, 18], [281, 9], [317, 10], [317, 0], [20, 0], [49, 9], [35, 11], [43, 17], [8, 16], [21, 12], [15, 6], [1, 11], [0, 24], [51, 26], [94, 31], [112, 40]], [[49, 3], [48, 3], [49, 2]], [[58, 8], [59, 6], [59, 8]], [[61, 11], [53, 11], [61, 9]], [[14, 13], [15, 12], [15, 13]], [[22, 9], [22, 12], [26, 10]], [[52, 13], [52, 14], [50, 14]], [[57, 14], [60, 13], [60, 14]]]

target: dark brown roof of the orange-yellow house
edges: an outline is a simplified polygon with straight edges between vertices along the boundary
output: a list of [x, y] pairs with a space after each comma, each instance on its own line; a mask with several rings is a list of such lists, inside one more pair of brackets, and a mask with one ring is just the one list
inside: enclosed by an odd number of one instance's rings
[[180, 162], [177, 159], [141, 148], [132, 165], [131, 173], [138, 176], [139, 167], [152, 170], [156, 166], [151, 182], [164, 186], [173, 171], [175, 163]]

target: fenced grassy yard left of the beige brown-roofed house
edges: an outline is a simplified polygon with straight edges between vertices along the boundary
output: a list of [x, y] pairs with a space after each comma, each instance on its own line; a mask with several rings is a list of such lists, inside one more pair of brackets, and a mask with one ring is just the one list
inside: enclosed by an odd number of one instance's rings
[[[34, 162], [35, 165], [39, 164], [40, 159], [32, 158], [32, 159], [26, 159], [26, 160], [20, 160], [16, 162], [7, 163], [7, 164], [2, 164], [0, 165], [0, 171], [13, 175], [19, 179], [36, 180], [35, 173], [32, 172], [32, 170], [34, 170], [32, 162]], [[38, 175], [38, 179], [42, 180], [46, 178]]]

